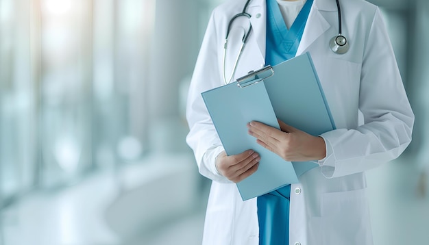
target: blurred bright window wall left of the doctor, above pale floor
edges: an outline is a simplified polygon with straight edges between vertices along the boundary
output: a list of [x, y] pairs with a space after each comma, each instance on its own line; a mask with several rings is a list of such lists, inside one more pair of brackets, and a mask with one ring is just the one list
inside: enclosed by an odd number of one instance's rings
[[0, 203], [145, 151], [154, 0], [0, 0]]

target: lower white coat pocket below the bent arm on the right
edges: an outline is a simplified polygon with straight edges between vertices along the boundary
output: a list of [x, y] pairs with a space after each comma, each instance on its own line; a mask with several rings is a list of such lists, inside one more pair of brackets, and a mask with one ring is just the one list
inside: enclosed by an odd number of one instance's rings
[[330, 192], [321, 201], [323, 244], [372, 244], [366, 189]]

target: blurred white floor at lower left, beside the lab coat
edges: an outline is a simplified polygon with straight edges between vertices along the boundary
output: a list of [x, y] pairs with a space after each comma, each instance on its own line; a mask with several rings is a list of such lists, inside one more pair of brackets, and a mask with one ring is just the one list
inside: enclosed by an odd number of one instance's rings
[[[1, 212], [0, 245], [201, 244], [208, 182], [197, 174], [193, 162], [188, 164], [189, 159], [193, 157], [149, 157], [149, 163], [130, 165], [120, 175], [99, 172], [69, 188], [29, 194]], [[176, 186], [169, 188], [172, 184]], [[151, 192], [156, 188], [179, 193], [170, 193], [173, 200], [169, 203], [168, 198]], [[193, 197], [197, 200], [186, 201]], [[118, 212], [119, 217], [112, 214]], [[158, 214], [160, 221], [151, 222]]]

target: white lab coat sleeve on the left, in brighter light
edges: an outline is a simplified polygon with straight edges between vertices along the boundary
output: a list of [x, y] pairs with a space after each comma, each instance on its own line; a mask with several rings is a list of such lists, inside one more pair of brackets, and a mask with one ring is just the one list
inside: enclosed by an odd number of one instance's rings
[[220, 34], [217, 34], [215, 25], [215, 12], [213, 12], [188, 90], [186, 120], [189, 133], [186, 136], [186, 142], [194, 151], [201, 175], [214, 181], [232, 183], [220, 175], [215, 167], [217, 155], [223, 151], [223, 146], [201, 96], [201, 92], [221, 86], [223, 82], [218, 62], [219, 45], [222, 44], [219, 44]]

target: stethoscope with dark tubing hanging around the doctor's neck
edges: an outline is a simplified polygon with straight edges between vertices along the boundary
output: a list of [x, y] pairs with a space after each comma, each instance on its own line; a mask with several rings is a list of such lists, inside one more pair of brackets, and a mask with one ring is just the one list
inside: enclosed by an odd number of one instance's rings
[[[236, 14], [234, 17], [231, 18], [230, 23], [228, 23], [228, 29], [226, 31], [225, 44], [223, 44], [223, 81], [225, 81], [225, 84], [230, 83], [230, 81], [232, 80], [232, 77], [234, 77], [234, 74], [235, 74], [235, 71], [237, 68], [237, 64], [238, 64], [238, 60], [240, 60], [241, 53], [243, 53], [243, 49], [244, 49], [245, 44], [247, 42], [247, 38], [249, 38], [249, 34], [252, 31], [252, 23], [250, 23], [250, 21], [249, 21], [249, 27], [247, 28], [247, 31], [245, 31], [245, 34], [243, 35], [243, 38], [241, 39], [240, 51], [238, 52], [238, 55], [237, 55], [236, 60], [234, 62], [234, 66], [232, 68], [232, 73], [231, 73], [230, 79], [227, 80], [226, 75], [225, 75], [225, 59], [226, 59], [226, 49], [228, 46], [228, 36], [230, 35], [230, 29], [231, 29], [232, 23], [234, 23], [234, 21], [238, 17], [246, 17], [250, 20], [250, 18], [252, 16], [246, 12], [247, 5], [249, 5], [250, 1], [251, 0], [247, 0], [246, 4], [244, 5], [243, 12]], [[349, 42], [347, 42], [347, 38], [345, 38], [345, 36], [343, 36], [343, 34], [341, 34], [341, 32], [342, 32], [342, 29], [341, 29], [341, 8], [340, 8], [339, 0], [335, 0], [335, 1], [336, 1], [336, 8], [338, 10], [338, 30], [339, 30], [339, 33], [338, 33], [338, 35], [334, 36], [330, 40], [329, 47], [332, 50], [332, 52], [338, 53], [338, 54], [343, 54], [349, 50]]]

